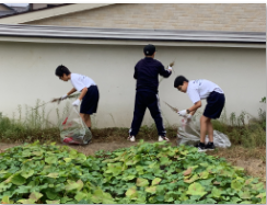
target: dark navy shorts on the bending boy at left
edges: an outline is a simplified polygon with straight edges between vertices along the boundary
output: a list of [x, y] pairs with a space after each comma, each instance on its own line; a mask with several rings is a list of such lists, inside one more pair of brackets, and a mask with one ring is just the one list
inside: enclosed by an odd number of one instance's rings
[[96, 86], [89, 87], [86, 94], [82, 99], [80, 113], [89, 114], [89, 115], [96, 113], [98, 100], [100, 100], [100, 93], [97, 87]]

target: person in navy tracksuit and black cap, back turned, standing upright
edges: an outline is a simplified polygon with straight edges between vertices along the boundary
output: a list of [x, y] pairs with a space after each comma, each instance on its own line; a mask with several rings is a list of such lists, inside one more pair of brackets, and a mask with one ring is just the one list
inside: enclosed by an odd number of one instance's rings
[[135, 136], [139, 132], [146, 109], [148, 107], [158, 128], [159, 141], [169, 141], [161, 116], [158, 88], [159, 75], [169, 78], [172, 73], [172, 67], [169, 66], [169, 69], [166, 70], [160, 61], [154, 59], [155, 47], [151, 44], [144, 46], [143, 54], [146, 57], [139, 60], [135, 67], [134, 78], [137, 80], [137, 92], [134, 119], [128, 139], [130, 141], [136, 140]]

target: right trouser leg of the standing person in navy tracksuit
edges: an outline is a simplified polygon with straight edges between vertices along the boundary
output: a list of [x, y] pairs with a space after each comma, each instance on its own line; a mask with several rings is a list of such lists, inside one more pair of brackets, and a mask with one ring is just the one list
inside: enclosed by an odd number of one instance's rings
[[160, 110], [160, 100], [158, 94], [151, 95], [150, 103], [148, 104], [151, 116], [154, 119], [159, 136], [165, 137], [166, 130], [163, 125], [163, 119]]

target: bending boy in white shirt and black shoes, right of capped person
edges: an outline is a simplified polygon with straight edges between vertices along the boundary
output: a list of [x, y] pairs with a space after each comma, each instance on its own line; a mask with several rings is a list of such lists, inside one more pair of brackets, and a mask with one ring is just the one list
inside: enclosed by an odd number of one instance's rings
[[[196, 111], [201, 106], [201, 100], [207, 100], [204, 114], [200, 117], [200, 143], [197, 145], [199, 151], [213, 150], [213, 127], [211, 118], [219, 118], [225, 103], [222, 89], [205, 79], [188, 81], [185, 77], [178, 76], [174, 81], [174, 88], [181, 92], [186, 92], [194, 105], [187, 110], [179, 111], [181, 116], [191, 118]], [[206, 133], [208, 132], [209, 143], [205, 145]]]

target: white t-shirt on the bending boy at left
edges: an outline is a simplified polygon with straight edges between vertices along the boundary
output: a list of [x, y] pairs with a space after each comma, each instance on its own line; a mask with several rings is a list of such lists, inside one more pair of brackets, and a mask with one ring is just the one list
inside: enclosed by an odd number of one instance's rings
[[71, 73], [70, 81], [77, 91], [81, 91], [85, 87], [96, 86], [96, 83], [89, 77], [78, 73]]

